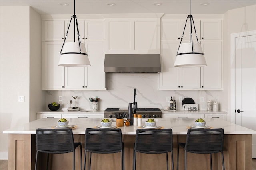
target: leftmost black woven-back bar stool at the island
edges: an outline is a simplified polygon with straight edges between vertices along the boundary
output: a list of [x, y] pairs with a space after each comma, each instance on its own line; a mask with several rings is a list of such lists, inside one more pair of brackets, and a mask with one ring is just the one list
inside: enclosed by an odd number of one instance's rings
[[47, 170], [49, 154], [62, 154], [73, 152], [73, 170], [75, 169], [75, 149], [80, 146], [80, 161], [82, 170], [82, 144], [74, 143], [73, 131], [65, 129], [36, 129], [36, 165], [38, 152], [47, 153]]

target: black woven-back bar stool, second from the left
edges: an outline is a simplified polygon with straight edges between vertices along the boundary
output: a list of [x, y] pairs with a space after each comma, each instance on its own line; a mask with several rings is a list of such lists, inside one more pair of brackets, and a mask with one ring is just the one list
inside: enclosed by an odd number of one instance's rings
[[92, 153], [109, 154], [121, 152], [121, 169], [124, 170], [124, 143], [121, 129], [93, 129], [85, 130], [84, 170], [86, 165], [86, 152], [90, 153], [89, 170], [91, 169]]

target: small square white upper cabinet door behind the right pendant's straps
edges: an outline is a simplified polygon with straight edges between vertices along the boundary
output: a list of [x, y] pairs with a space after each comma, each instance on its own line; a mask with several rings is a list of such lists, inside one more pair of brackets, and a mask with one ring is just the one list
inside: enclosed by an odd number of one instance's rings
[[[186, 29], [184, 31], [184, 27], [186, 24]], [[196, 33], [195, 33], [195, 29], [194, 29], [194, 25], [192, 22], [192, 38], [193, 41], [196, 41], [196, 35], [198, 40], [200, 40], [200, 20], [194, 20], [194, 24], [195, 24], [195, 28], [196, 28]], [[187, 23], [186, 20], [181, 20], [180, 21], [180, 38], [182, 37], [182, 33], [184, 31], [184, 35], [183, 35], [183, 39], [182, 40], [190, 40], [190, 21], [188, 19]]]

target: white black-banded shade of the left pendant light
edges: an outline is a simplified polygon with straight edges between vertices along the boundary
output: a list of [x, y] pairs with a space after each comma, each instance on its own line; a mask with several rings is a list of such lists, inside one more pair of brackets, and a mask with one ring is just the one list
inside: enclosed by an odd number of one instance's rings
[[67, 67], [86, 67], [90, 66], [85, 45], [80, 43], [81, 53], [78, 42], [66, 42], [60, 53], [59, 66]]

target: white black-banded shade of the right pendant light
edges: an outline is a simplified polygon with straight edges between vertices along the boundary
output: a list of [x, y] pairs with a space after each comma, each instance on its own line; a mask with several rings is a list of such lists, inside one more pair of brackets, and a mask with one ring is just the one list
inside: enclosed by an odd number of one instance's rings
[[207, 66], [200, 43], [182, 43], [174, 62], [175, 67], [202, 67]]

